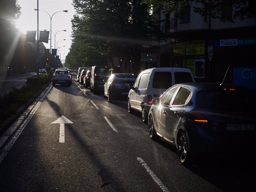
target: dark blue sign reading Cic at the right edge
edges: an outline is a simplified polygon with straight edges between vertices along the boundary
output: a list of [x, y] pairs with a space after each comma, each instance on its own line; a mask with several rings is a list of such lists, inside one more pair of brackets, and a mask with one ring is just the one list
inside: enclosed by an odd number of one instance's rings
[[256, 67], [234, 67], [233, 84], [256, 89]]

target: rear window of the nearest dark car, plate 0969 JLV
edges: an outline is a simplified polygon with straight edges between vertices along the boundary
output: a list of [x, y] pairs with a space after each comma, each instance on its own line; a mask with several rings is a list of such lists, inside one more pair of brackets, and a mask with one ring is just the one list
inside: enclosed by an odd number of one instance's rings
[[255, 110], [255, 94], [250, 90], [199, 92], [197, 106], [217, 112], [250, 112]]

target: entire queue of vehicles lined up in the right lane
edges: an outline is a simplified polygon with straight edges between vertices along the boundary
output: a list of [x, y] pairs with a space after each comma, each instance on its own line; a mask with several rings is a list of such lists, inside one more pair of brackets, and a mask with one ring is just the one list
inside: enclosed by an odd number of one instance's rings
[[232, 84], [197, 83], [191, 71], [182, 68], [147, 69], [137, 78], [113, 73], [111, 67], [92, 69], [86, 72], [90, 85], [85, 77], [83, 85], [93, 94], [103, 91], [109, 102], [127, 99], [128, 112], [141, 113], [151, 139], [161, 138], [175, 146], [181, 164], [205, 155], [248, 159], [254, 155], [255, 91]]

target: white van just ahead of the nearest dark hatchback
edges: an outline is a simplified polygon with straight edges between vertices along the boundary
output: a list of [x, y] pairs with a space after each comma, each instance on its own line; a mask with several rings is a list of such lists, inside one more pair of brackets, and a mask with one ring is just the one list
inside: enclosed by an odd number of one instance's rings
[[128, 112], [142, 113], [142, 121], [147, 122], [152, 99], [160, 97], [169, 87], [177, 83], [195, 82], [190, 69], [160, 67], [142, 71], [128, 94]]

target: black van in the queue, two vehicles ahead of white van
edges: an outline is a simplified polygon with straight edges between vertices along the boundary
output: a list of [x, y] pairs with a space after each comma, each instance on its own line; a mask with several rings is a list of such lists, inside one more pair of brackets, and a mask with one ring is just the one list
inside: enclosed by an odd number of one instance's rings
[[90, 90], [93, 94], [104, 92], [105, 82], [103, 80], [107, 80], [113, 73], [121, 73], [120, 67], [97, 65], [92, 67]]

